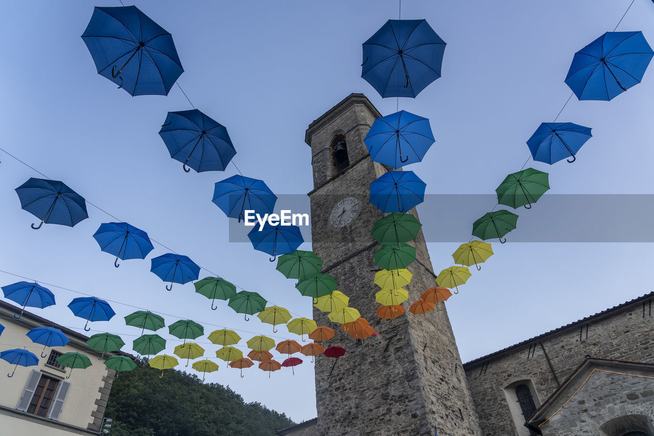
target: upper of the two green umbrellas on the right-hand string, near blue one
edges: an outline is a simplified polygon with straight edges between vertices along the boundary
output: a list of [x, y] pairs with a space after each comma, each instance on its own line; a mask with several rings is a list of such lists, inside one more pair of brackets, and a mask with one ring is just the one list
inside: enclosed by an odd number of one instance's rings
[[549, 174], [527, 168], [524, 171], [509, 174], [500, 186], [497, 187], [497, 202], [517, 209], [525, 206], [531, 208], [540, 196], [549, 189]]

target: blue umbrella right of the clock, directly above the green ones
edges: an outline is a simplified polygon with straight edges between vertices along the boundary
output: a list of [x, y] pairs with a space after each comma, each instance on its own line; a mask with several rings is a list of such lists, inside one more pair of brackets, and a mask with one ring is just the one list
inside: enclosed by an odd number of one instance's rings
[[370, 202], [384, 213], [404, 213], [422, 203], [425, 187], [413, 171], [387, 171], [370, 183]]

